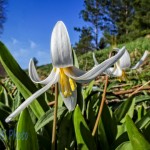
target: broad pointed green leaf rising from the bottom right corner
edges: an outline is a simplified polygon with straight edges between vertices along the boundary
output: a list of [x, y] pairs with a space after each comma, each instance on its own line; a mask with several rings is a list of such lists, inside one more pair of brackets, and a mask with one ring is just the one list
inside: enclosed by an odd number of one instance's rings
[[150, 150], [150, 144], [139, 132], [132, 119], [126, 116], [126, 128], [132, 147], [135, 150]]

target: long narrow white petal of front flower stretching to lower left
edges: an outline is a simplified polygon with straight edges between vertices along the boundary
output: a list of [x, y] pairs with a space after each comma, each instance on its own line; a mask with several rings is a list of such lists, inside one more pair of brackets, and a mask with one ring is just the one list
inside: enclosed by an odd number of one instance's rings
[[5, 122], [11, 121], [21, 111], [23, 111], [33, 100], [35, 100], [38, 96], [40, 96], [45, 91], [47, 91], [51, 87], [52, 84], [55, 84], [56, 82], [58, 82], [58, 75], [59, 75], [58, 73], [59, 73], [59, 71], [57, 71], [57, 73], [55, 74], [53, 80], [51, 80], [46, 86], [44, 86], [43, 88], [41, 88], [40, 90], [38, 90], [37, 92], [32, 94], [29, 98], [27, 98], [12, 114], [10, 114], [6, 118]]

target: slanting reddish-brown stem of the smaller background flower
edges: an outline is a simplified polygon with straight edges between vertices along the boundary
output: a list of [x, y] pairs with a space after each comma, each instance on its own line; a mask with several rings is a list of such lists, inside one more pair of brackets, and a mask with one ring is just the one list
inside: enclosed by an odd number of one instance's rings
[[105, 98], [106, 98], [106, 90], [107, 90], [107, 84], [108, 84], [108, 76], [105, 76], [105, 77], [106, 77], [106, 79], [105, 79], [105, 87], [104, 87], [104, 91], [103, 91], [103, 95], [102, 95], [102, 101], [101, 101], [101, 104], [100, 104], [98, 116], [97, 116], [97, 118], [96, 118], [96, 122], [95, 122], [95, 125], [94, 125], [94, 128], [93, 128], [93, 131], [92, 131], [92, 136], [94, 136], [95, 133], [96, 133], [96, 130], [97, 130], [97, 127], [98, 127], [98, 122], [99, 122], [99, 119], [100, 119], [100, 117], [101, 117], [102, 110], [103, 110], [103, 106], [104, 106], [104, 102], [105, 102]]

